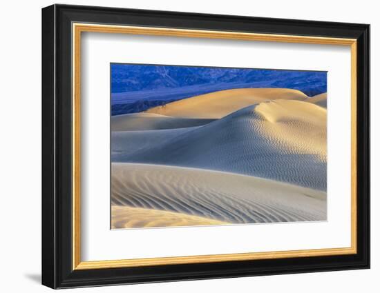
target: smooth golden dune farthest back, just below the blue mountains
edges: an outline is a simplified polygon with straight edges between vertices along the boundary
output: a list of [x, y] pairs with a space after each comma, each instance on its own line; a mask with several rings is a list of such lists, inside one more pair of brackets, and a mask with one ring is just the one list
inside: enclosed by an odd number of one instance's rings
[[[286, 88], [242, 88], [221, 90], [196, 97], [182, 99], [167, 105], [151, 108], [146, 112], [171, 117], [198, 119], [225, 117], [248, 105], [272, 99], [293, 99], [303, 101], [307, 96], [299, 90]], [[195, 126], [195, 125], [193, 125]]]

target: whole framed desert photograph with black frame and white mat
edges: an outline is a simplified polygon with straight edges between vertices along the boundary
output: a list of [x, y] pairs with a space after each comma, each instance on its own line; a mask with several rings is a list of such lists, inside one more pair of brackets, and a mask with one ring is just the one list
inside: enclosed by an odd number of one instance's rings
[[370, 267], [370, 26], [42, 10], [42, 283]]

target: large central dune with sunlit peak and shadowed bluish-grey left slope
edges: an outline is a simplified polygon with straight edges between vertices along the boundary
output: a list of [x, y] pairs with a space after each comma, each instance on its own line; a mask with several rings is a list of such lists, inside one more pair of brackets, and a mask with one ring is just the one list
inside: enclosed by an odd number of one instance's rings
[[[119, 145], [113, 161], [220, 170], [326, 189], [326, 110], [313, 103], [267, 101], [167, 139], [131, 133], [113, 142]], [[139, 147], [135, 140], [133, 152], [126, 145], [132, 135], [143, 142]]]

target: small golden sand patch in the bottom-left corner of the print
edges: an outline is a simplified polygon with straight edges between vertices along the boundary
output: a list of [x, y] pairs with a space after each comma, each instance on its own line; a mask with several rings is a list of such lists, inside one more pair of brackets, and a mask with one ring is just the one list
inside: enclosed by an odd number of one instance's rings
[[165, 210], [131, 208], [121, 205], [113, 205], [111, 215], [112, 229], [230, 224], [201, 216], [180, 214], [178, 212], [168, 212]]

